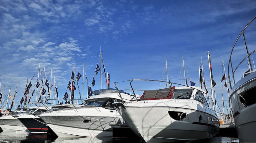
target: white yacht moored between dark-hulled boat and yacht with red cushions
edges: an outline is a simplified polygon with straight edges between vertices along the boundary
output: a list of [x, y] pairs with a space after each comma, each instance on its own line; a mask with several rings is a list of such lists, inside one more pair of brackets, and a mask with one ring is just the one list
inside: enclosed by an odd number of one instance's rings
[[92, 97], [79, 106], [70, 108], [52, 108], [51, 113], [39, 117], [47, 123], [59, 137], [84, 136], [106, 137], [112, 136], [110, 124], [123, 123], [122, 117], [116, 112], [111, 103], [127, 102], [133, 99], [128, 93], [122, 92], [122, 98], [115, 89], [92, 91]]

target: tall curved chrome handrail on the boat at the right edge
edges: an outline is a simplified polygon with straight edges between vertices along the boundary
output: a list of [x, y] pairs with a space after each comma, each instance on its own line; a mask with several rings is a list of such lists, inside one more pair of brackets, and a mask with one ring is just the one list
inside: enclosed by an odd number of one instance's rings
[[[233, 82], [235, 84], [235, 77], [234, 77], [234, 73], [236, 71], [236, 69], [241, 65], [241, 63], [246, 60], [248, 58], [249, 60], [249, 65], [250, 65], [250, 71], [253, 72], [252, 70], [252, 66], [251, 66], [251, 59], [250, 59], [250, 55], [253, 54], [254, 52], [256, 52], [256, 50], [254, 50], [253, 52], [249, 53], [248, 51], [248, 47], [247, 47], [247, 44], [246, 44], [246, 40], [245, 40], [245, 35], [244, 35], [244, 30], [251, 24], [251, 22], [256, 18], [256, 16], [243, 28], [243, 30], [241, 31], [241, 33], [238, 35], [238, 37], [236, 38], [235, 40], [235, 43], [233, 44], [232, 46], [232, 50], [231, 50], [231, 53], [230, 53], [230, 57], [229, 57], [229, 62], [228, 62], [228, 81], [229, 81], [229, 85], [230, 85], [230, 89], [232, 90], [232, 84], [231, 84], [231, 78], [233, 78]], [[235, 68], [235, 70], [233, 70], [233, 65], [232, 65], [232, 60], [231, 60], [231, 56], [232, 56], [232, 52], [234, 50], [234, 47], [238, 41], [238, 39], [240, 38], [240, 36], [243, 35], [243, 39], [244, 39], [244, 44], [245, 44], [245, 48], [246, 48], [246, 52], [247, 52], [247, 56], [237, 65], [237, 67]], [[230, 75], [229, 75], [229, 67], [231, 67], [231, 70], [232, 70], [232, 77], [230, 78]]]

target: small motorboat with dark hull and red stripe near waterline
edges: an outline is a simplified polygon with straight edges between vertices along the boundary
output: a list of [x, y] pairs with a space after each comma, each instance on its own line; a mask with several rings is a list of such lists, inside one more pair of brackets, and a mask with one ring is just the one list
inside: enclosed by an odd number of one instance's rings
[[29, 107], [25, 114], [20, 115], [17, 119], [32, 133], [47, 133], [48, 126], [38, 117], [50, 110], [51, 107], [35, 106]]

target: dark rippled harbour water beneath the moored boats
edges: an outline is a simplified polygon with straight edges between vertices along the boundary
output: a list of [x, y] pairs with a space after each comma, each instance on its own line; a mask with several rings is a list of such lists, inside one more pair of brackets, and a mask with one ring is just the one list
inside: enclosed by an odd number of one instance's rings
[[[26, 131], [0, 132], [1, 143], [145, 143], [142, 139], [112, 139], [112, 137], [68, 138], [56, 137], [51, 134], [35, 134]], [[239, 143], [237, 138], [212, 137], [210, 139], [188, 141], [183, 143]]]

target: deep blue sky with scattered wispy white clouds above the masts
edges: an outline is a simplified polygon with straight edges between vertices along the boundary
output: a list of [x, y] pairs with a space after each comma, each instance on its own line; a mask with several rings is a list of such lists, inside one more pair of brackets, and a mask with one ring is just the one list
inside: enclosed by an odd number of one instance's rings
[[[15, 99], [18, 103], [26, 78], [31, 79], [35, 72], [37, 75], [38, 64], [47, 73], [53, 67], [62, 97], [73, 64], [81, 69], [85, 61], [91, 82], [101, 46], [112, 88], [113, 82], [128, 79], [161, 80], [165, 57], [172, 82], [182, 83], [179, 75], [184, 57], [186, 76], [199, 86], [198, 66], [202, 56], [209, 90], [206, 51], [210, 51], [220, 101], [221, 56], [227, 70], [232, 45], [255, 16], [255, 5], [255, 1], [1, 0], [0, 82], [2, 88], [5, 85], [5, 95], [9, 86], [13, 95], [19, 82]], [[250, 36], [255, 36], [251, 31]], [[250, 47], [255, 44], [250, 39], [248, 42]], [[99, 75], [95, 80], [93, 90], [100, 87]]]

